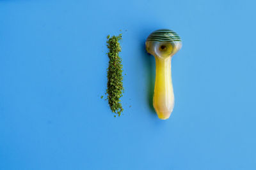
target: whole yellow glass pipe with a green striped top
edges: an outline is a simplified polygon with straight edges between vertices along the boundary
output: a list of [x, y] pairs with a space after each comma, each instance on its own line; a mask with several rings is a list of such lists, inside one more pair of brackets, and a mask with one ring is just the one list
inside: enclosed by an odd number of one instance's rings
[[160, 119], [170, 117], [174, 106], [171, 62], [182, 46], [179, 35], [170, 29], [152, 32], [146, 41], [147, 52], [156, 59], [153, 106]]

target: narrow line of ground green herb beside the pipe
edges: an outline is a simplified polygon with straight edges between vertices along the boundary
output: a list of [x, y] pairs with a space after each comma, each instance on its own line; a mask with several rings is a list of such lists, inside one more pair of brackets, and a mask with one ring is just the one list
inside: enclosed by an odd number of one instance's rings
[[118, 41], [122, 39], [122, 34], [119, 36], [110, 36], [108, 38], [108, 57], [109, 57], [109, 66], [108, 66], [108, 103], [113, 111], [113, 113], [121, 115], [124, 109], [120, 101], [122, 97], [122, 92], [124, 92], [123, 87], [123, 66], [122, 59], [119, 57], [118, 53], [121, 52], [121, 46]]

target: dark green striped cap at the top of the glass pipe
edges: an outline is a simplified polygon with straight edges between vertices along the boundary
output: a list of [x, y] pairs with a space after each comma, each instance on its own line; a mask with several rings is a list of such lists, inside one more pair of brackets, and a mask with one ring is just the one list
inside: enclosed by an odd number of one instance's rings
[[152, 32], [147, 41], [181, 41], [180, 36], [170, 29], [158, 29]]

